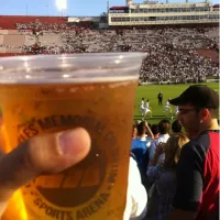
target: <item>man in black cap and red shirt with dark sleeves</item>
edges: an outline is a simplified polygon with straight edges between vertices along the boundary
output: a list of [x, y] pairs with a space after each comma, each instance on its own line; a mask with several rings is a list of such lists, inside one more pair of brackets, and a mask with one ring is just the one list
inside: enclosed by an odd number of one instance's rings
[[219, 95], [194, 85], [169, 102], [179, 107], [178, 120], [194, 139], [182, 148], [175, 209], [167, 219], [219, 219]]

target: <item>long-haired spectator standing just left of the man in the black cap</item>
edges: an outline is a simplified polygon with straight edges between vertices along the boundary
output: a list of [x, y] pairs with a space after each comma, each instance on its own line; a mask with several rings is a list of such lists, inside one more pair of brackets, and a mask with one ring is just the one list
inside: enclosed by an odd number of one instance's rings
[[154, 184], [151, 188], [151, 199], [147, 205], [147, 219], [162, 220], [172, 210], [176, 191], [176, 166], [180, 150], [189, 140], [183, 133], [173, 134], [164, 144], [165, 161], [157, 164], [156, 160], [163, 151], [156, 151], [155, 166], [147, 169], [146, 176]]

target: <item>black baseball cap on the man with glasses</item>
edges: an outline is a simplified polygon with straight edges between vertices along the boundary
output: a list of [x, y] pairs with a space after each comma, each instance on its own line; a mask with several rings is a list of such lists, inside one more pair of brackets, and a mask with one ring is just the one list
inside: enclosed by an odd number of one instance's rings
[[218, 109], [219, 95], [206, 85], [194, 85], [188, 87], [179, 97], [170, 99], [169, 103], [174, 106], [190, 103], [200, 108]]

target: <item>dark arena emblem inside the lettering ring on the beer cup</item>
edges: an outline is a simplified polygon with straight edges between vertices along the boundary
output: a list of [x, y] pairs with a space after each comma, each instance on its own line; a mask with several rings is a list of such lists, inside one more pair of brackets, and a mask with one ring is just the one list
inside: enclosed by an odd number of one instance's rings
[[77, 207], [91, 199], [100, 188], [106, 174], [106, 155], [91, 146], [89, 155], [78, 165], [53, 175], [37, 178], [34, 187], [51, 204]]

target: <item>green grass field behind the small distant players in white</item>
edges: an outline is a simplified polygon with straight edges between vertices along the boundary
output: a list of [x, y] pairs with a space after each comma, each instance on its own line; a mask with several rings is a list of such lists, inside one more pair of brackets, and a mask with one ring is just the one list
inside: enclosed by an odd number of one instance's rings
[[[150, 116], [146, 117], [146, 121], [151, 124], [158, 123], [162, 119], [169, 119], [170, 121], [175, 120], [175, 118], [172, 120], [170, 116], [168, 116], [168, 112], [163, 112], [164, 105], [166, 103], [168, 98], [175, 98], [179, 96], [186, 88], [188, 88], [190, 85], [147, 85], [147, 86], [139, 86], [136, 88], [136, 98], [135, 98], [135, 106], [134, 106], [134, 121], [141, 120], [141, 112], [139, 110], [139, 106], [142, 98], [145, 98], [145, 101], [150, 99], [150, 107], [152, 109], [152, 118]], [[211, 87], [216, 91], [219, 92], [219, 84], [218, 82], [211, 82], [207, 84], [207, 86]], [[162, 91], [164, 98], [163, 98], [163, 106], [158, 106], [157, 95]], [[198, 97], [199, 99], [200, 97]], [[170, 106], [173, 109], [173, 112], [175, 112], [175, 107]]]

